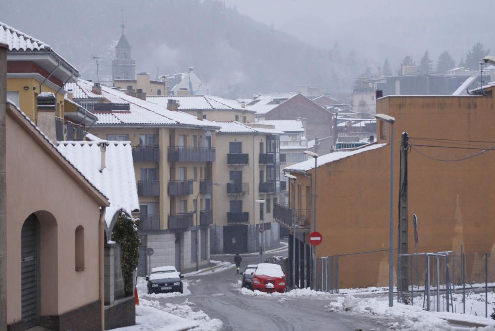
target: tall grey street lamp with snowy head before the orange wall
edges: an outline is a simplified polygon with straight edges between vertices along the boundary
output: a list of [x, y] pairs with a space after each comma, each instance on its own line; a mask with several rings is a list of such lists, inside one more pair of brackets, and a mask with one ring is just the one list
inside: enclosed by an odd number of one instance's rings
[[385, 114], [375, 118], [390, 123], [390, 224], [389, 224], [389, 307], [394, 306], [394, 123], [396, 119]]

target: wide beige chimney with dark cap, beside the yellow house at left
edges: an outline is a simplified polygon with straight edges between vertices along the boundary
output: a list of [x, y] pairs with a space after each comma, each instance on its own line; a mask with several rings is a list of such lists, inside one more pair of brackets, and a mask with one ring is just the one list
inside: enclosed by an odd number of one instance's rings
[[[55, 118], [55, 95], [51, 92], [43, 92], [36, 98], [38, 108], [38, 118], [36, 124], [40, 130], [47, 135], [49, 140], [56, 142], [57, 138], [63, 140], [62, 137], [57, 137], [56, 127], [60, 125], [63, 133], [63, 119]], [[57, 123], [55, 122], [57, 121]], [[61, 123], [58, 123], [61, 122]]]

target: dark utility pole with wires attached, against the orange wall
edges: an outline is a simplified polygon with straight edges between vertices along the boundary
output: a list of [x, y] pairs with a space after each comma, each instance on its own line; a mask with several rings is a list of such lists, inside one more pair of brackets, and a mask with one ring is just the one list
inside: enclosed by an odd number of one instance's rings
[[[407, 148], [409, 137], [407, 132], [402, 133], [400, 144], [400, 174], [399, 174], [399, 230], [397, 235], [397, 254], [408, 253], [408, 219], [407, 219]], [[407, 290], [408, 282], [408, 257], [397, 258], [397, 287], [398, 291]]]

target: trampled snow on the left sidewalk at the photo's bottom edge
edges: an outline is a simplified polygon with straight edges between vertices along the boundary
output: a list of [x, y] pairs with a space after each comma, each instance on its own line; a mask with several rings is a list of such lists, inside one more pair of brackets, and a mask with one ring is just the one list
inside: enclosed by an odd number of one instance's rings
[[113, 331], [218, 331], [223, 325], [202, 311], [193, 311], [194, 304], [188, 300], [182, 304], [161, 305], [156, 300], [140, 298], [140, 303], [136, 306], [136, 325]]

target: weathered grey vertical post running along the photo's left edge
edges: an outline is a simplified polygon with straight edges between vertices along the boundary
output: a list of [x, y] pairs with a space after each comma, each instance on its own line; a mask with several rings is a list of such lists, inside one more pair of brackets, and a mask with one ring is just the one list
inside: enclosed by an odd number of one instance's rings
[[7, 330], [7, 186], [6, 186], [6, 102], [7, 51], [0, 43], [0, 331]]

